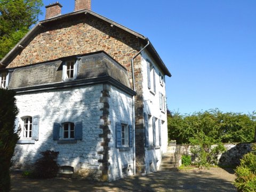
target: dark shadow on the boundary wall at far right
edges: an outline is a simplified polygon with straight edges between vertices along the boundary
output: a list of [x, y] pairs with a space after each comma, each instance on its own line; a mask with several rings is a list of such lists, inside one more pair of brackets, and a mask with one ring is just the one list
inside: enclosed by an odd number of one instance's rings
[[[228, 146], [228, 145], [227, 145]], [[225, 146], [227, 148], [227, 146]], [[230, 146], [225, 153], [222, 153], [219, 159], [220, 166], [237, 166], [243, 155], [251, 151], [250, 143], [238, 143]]]

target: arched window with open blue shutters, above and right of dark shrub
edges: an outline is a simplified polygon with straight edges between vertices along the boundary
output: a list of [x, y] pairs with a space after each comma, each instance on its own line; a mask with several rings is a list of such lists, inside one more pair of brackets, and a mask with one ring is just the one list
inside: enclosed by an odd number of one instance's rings
[[53, 140], [58, 143], [73, 143], [83, 139], [82, 122], [65, 122], [53, 124]]

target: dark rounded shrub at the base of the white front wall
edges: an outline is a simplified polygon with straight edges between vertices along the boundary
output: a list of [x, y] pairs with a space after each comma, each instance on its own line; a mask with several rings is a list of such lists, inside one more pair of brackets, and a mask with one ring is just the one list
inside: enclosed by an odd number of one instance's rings
[[43, 157], [39, 158], [35, 163], [34, 176], [40, 179], [56, 177], [59, 171], [59, 166], [56, 161], [59, 152], [46, 150], [40, 154], [42, 154]]

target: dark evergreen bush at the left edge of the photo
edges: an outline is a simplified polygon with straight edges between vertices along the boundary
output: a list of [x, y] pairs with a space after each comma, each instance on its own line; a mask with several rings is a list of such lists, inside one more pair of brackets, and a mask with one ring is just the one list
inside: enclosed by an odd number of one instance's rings
[[14, 133], [15, 117], [18, 114], [15, 92], [0, 89], [0, 189], [10, 190], [11, 158], [14, 148], [19, 140], [17, 133]]

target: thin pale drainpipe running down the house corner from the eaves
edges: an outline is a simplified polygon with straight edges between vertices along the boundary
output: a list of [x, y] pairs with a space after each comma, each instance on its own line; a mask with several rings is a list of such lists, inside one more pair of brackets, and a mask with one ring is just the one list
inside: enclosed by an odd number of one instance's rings
[[[133, 60], [143, 51], [146, 49], [146, 47], [149, 45], [149, 40], [146, 38], [148, 43], [145, 45], [137, 54], [134, 55], [134, 57], [131, 59], [131, 65], [132, 65], [132, 86], [133, 91], [135, 91], [135, 78], [134, 78], [134, 68], [133, 68]], [[133, 127], [133, 175], [136, 175], [136, 160], [135, 160], [135, 95], [132, 96], [132, 127]]]

